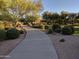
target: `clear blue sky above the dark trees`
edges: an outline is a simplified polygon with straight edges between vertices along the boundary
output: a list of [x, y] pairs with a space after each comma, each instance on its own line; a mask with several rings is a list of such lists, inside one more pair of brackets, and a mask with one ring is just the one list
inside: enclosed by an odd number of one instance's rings
[[42, 0], [43, 11], [52, 12], [79, 12], [79, 0]]

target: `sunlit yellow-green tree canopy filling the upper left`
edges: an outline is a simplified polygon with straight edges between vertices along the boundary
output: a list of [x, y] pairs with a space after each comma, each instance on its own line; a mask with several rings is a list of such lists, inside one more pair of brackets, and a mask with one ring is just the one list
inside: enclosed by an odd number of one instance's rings
[[0, 15], [10, 14], [14, 19], [37, 15], [42, 9], [40, 0], [0, 0]]

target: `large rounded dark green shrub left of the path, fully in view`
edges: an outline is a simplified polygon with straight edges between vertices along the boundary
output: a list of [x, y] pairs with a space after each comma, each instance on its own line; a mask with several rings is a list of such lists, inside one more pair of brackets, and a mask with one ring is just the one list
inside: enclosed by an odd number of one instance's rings
[[6, 34], [8, 39], [16, 39], [20, 35], [19, 31], [15, 28], [9, 29]]

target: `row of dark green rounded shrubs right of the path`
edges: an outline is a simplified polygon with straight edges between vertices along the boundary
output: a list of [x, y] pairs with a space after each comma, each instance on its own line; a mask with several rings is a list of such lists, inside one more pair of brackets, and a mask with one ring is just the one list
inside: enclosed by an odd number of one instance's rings
[[54, 24], [52, 26], [52, 30], [48, 29], [48, 33], [52, 33], [52, 32], [57, 32], [57, 33], [61, 33], [63, 35], [72, 35], [74, 34], [75, 30], [73, 26], [64, 26], [63, 28], [61, 28], [60, 25], [58, 24]]

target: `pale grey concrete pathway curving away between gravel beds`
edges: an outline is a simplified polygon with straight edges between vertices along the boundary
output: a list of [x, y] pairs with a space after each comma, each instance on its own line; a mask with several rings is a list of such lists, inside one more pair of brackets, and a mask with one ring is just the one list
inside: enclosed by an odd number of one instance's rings
[[58, 59], [49, 37], [37, 29], [27, 30], [26, 38], [8, 56], [5, 59]]

